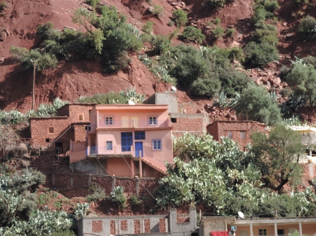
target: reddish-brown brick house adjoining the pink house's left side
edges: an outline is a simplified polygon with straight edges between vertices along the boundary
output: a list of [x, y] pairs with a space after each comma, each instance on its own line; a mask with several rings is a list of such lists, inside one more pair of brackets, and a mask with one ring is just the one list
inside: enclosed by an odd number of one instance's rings
[[85, 141], [90, 111], [95, 104], [66, 104], [57, 116], [30, 118], [31, 143], [55, 146], [59, 153], [70, 149], [70, 140]]

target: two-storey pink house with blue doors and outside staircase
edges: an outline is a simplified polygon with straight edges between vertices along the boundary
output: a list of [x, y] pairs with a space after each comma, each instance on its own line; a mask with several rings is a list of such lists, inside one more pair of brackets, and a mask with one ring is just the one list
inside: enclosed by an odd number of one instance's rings
[[72, 141], [70, 163], [99, 162], [114, 176], [161, 177], [173, 162], [168, 105], [96, 105], [86, 142]]

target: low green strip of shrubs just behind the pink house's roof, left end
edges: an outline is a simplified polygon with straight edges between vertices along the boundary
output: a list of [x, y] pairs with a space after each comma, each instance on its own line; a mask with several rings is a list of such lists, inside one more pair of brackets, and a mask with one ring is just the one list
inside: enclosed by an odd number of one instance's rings
[[126, 99], [119, 92], [96, 93], [92, 96], [79, 97], [76, 102], [96, 104], [126, 104]]

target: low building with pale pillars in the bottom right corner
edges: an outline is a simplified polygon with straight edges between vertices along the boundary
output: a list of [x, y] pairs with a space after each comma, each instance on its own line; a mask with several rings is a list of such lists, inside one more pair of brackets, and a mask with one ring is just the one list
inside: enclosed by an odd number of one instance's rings
[[212, 232], [228, 231], [237, 227], [235, 236], [291, 235], [296, 230], [299, 235], [316, 235], [315, 217], [296, 218], [235, 218], [206, 216], [199, 225], [200, 236], [210, 236]]

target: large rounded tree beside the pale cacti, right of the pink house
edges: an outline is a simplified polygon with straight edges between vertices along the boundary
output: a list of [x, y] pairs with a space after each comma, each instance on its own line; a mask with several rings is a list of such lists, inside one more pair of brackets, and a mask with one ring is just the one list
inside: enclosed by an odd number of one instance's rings
[[298, 186], [303, 169], [298, 163], [305, 146], [302, 135], [284, 125], [276, 125], [269, 135], [256, 132], [251, 135], [252, 162], [257, 165], [270, 188], [281, 193], [286, 183]]

